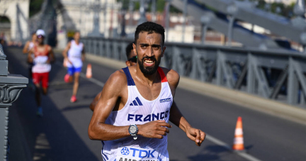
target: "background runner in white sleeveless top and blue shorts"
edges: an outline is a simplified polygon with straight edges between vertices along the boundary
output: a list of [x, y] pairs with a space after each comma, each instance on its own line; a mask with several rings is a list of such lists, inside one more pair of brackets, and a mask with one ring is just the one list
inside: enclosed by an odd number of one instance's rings
[[[67, 60], [68, 73], [64, 77], [65, 82], [72, 82], [72, 77], [74, 76], [74, 86], [72, 91], [71, 102], [77, 101], [77, 90], [79, 88], [79, 74], [81, 72], [81, 67], [83, 66], [83, 61], [85, 60], [85, 50], [84, 44], [79, 42], [80, 33], [77, 31], [74, 33], [74, 40], [71, 40], [62, 55], [64, 59]], [[68, 52], [68, 55], [67, 55]]]

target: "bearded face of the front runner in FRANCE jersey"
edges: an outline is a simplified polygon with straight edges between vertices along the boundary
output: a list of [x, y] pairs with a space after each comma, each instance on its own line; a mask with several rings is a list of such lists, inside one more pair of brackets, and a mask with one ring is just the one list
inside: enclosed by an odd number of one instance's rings
[[142, 32], [139, 34], [136, 45], [133, 45], [137, 53], [137, 64], [145, 75], [157, 72], [159, 63], [164, 56], [162, 35], [159, 33]]

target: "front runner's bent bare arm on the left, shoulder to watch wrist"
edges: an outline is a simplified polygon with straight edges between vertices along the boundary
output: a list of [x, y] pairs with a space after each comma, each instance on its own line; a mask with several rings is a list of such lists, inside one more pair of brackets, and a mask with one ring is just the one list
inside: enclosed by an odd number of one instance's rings
[[128, 83], [124, 77], [124, 73], [116, 71], [104, 85], [101, 98], [95, 106], [89, 123], [89, 138], [91, 140], [115, 140], [130, 136], [128, 126], [112, 126], [105, 123], [121, 96], [121, 92], [127, 88], [126, 84]]

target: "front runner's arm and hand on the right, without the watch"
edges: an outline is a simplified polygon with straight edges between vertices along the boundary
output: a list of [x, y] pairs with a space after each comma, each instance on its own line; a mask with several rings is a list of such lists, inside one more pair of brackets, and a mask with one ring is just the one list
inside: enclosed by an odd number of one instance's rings
[[[176, 88], [179, 85], [179, 79], [180, 79], [179, 74], [174, 70], [170, 70], [169, 72], [167, 72], [167, 79], [172, 92], [172, 96], [174, 97]], [[187, 137], [193, 140], [196, 143], [196, 145], [200, 146], [201, 143], [203, 143], [206, 134], [200, 129], [193, 128], [188, 123], [188, 121], [183, 116], [181, 111], [179, 111], [178, 106], [176, 106], [175, 101], [173, 101], [173, 104], [170, 109], [169, 120], [171, 121], [171, 123], [174, 123], [174, 125], [181, 128], [181, 130], [183, 130], [186, 133]]]

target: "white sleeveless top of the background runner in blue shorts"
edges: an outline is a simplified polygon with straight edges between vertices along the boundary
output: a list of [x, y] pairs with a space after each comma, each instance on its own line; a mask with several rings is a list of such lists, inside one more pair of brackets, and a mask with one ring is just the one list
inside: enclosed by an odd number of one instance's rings
[[83, 43], [75, 43], [74, 40], [71, 41], [70, 49], [68, 50], [68, 59], [72, 64], [67, 62], [67, 67], [82, 67], [83, 62], [81, 61], [81, 52], [83, 50]]

